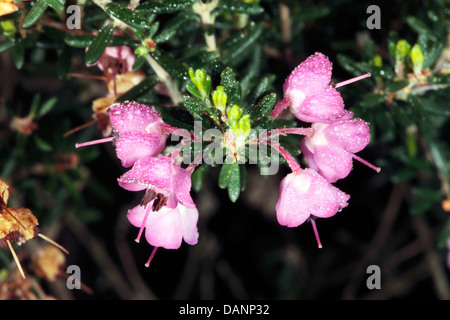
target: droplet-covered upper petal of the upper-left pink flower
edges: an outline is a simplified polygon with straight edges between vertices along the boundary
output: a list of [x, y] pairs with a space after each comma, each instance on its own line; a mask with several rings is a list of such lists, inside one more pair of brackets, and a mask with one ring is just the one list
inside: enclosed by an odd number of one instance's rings
[[[111, 125], [117, 132], [148, 132], [161, 133], [162, 118], [158, 111], [145, 104], [134, 101], [124, 103], [113, 103], [109, 107], [109, 118]], [[146, 131], [152, 125], [152, 132]]]

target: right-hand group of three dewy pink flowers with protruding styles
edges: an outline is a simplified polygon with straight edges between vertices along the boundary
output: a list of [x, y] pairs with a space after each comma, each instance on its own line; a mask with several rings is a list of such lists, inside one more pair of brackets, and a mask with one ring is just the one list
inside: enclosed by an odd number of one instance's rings
[[289, 107], [296, 118], [311, 123], [311, 131], [300, 145], [309, 168], [291, 165], [293, 172], [281, 182], [276, 213], [278, 222], [288, 227], [310, 220], [319, 247], [314, 219], [335, 215], [348, 205], [350, 198], [331, 183], [350, 173], [353, 159], [379, 171], [355, 155], [370, 141], [369, 125], [344, 109], [342, 97], [336, 90], [370, 74], [331, 85], [331, 73], [332, 64], [325, 55], [310, 56], [288, 76], [283, 86], [283, 100], [272, 112], [276, 117]]

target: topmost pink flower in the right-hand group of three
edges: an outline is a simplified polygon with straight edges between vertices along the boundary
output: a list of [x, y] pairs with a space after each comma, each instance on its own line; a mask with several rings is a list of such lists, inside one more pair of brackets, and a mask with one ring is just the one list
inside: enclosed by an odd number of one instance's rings
[[283, 85], [284, 99], [272, 113], [276, 116], [289, 106], [305, 122], [329, 122], [344, 115], [344, 102], [332, 86], [332, 64], [322, 53], [315, 53], [297, 66]]

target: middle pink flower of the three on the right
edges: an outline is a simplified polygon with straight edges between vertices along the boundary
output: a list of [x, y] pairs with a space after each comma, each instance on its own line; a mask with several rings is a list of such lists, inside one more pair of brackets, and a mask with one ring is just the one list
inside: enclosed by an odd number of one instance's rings
[[309, 167], [330, 183], [350, 173], [354, 153], [364, 149], [370, 141], [369, 125], [362, 119], [351, 119], [351, 116], [349, 112], [331, 124], [313, 123], [314, 133], [300, 143]]

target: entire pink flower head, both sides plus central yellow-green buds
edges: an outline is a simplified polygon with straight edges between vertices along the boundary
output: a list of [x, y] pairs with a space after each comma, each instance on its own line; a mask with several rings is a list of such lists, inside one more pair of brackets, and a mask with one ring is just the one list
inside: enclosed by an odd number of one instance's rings
[[[270, 144], [278, 150], [293, 171], [281, 182], [280, 198], [275, 208], [278, 222], [284, 226], [296, 227], [305, 221], [311, 221], [319, 247], [321, 243], [314, 219], [335, 215], [348, 205], [350, 198], [331, 183], [349, 174], [353, 159], [379, 170], [355, 155], [370, 141], [369, 126], [344, 109], [343, 100], [336, 90], [339, 86], [369, 75], [330, 85], [331, 71], [332, 65], [323, 54], [316, 53], [309, 57], [287, 78], [283, 87], [284, 98], [277, 105], [276, 101], [272, 105], [275, 105], [271, 113], [273, 118], [289, 107], [299, 120], [311, 123], [310, 128], [275, 129], [278, 134], [305, 135], [300, 149], [309, 168], [302, 169], [273, 139], [275, 131], [267, 134], [264, 139], [260, 137], [257, 142]], [[248, 136], [252, 125], [251, 115], [244, 114], [244, 109], [233, 101], [228, 104], [227, 94], [222, 86], [212, 92], [212, 100], [209, 100], [211, 79], [203, 70], [197, 70], [196, 73], [190, 70], [190, 76], [195, 87], [188, 86], [188, 90], [199, 101], [208, 102], [210, 107], [207, 110], [211, 117], [220, 126], [223, 122], [223, 127], [227, 128], [226, 132], [222, 131], [225, 138], [221, 140], [219, 149], [228, 150], [227, 158], [234, 158], [234, 165], [237, 166], [234, 171], [239, 171], [239, 150], [250, 143]], [[187, 101], [191, 100], [187, 98]], [[212, 106], [220, 111], [220, 115], [211, 111]], [[131, 167], [118, 178], [118, 183], [128, 191], [145, 191], [140, 204], [129, 210], [127, 217], [133, 226], [139, 228], [136, 241], [140, 241], [145, 230], [147, 242], [154, 246], [146, 263], [148, 266], [157, 248], [177, 249], [183, 240], [190, 245], [198, 241], [199, 214], [190, 195], [191, 173], [198, 162], [194, 161], [185, 169], [175, 161], [178, 150], [175, 149], [170, 155], [161, 155], [166, 147], [167, 135], [180, 134], [183, 130], [166, 124], [159, 112], [152, 107], [133, 101], [116, 102], [108, 108], [108, 115], [113, 136], [77, 144], [77, 147], [113, 141], [122, 165], [125, 168]], [[205, 138], [196, 137], [195, 132], [186, 132], [184, 137], [185, 142], [192, 139], [202, 141]], [[239, 145], [237, 138], [242, 140]], [[222, 174], [223, 172], [221, 176]], [[231, 181], [230, 177], [229, 180]], [[227, 185], [230, 186], [231, 183], [228, 182]], [[231, 193], [233, 197], [230, 196], [230, 199], [235, 199], [235, 194]]]

